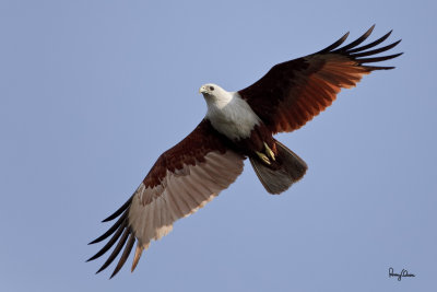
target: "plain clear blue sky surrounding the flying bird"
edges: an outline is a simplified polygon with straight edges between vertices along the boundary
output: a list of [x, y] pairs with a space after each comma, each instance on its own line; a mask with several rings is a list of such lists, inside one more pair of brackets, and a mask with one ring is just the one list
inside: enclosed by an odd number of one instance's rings
[[[0, 1], [1, 291], [432, 291], [437, 283], [433, 1]], [[206, 107], [271, 66], [376, 23], [405, 54], [300, 130], [308, 164], [270, 196], [251, 167], [95, 276], [86, 244]], [[351, 39], [352, 39], [351, 38]], [[129, 259], [131, 261], [131, 259]], [[129, 266], [129, 265], [128, 265]], [[388, 269], [416, 278], [401, 282]]]

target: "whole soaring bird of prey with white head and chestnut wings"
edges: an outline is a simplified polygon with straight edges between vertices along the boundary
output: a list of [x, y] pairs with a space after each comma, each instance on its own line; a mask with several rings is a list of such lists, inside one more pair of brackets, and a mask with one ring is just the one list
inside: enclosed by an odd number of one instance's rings
[[227, 92], [213, 83], [202, 85], [199, 92], [206, 102], [205, 117], [157, 159], [129, 200], [103, 221], [118, 218], [115, 224], [90, 243], [111, 236], [88, 260], [115, 246], [97, 272], [123, 249], [113, 278], [137, 242], [133, 271], [151, 241], [166, 235], [176, 220], [196, 212], [234, 183], [247, 157], [270, 194], [281, 194], [299, 180], [307, 164], [273, 135], [300, 128], [330, 106], [341, 89], [355, 86], [363, 75], [394, 68], [375, 66], [402, 55], [375, 56], [401, 42], [377, 47], [391, 31], [359, 46], [374, 27], [342, 47], [349, 33], [318, 52], [275, 65], [244, 90]]

